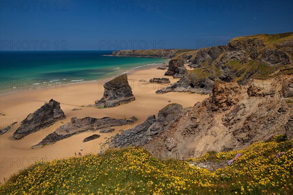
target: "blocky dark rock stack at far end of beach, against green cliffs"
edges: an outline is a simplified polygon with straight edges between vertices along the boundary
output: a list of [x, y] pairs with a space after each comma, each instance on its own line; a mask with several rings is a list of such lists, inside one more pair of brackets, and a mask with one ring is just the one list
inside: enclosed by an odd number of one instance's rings
[[186, 72], [183, 60], [170, 60], [168, 70], [165, 72], [166, 76], [173, 76], [174, 78], [181, 78]]

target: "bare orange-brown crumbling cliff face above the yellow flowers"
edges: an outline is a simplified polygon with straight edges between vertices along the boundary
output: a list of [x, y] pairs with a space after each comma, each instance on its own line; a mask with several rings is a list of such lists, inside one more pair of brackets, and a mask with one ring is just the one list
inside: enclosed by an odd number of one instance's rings
[[144, 147], [160, 157], [198, 157], [207, 151], [243, 149], [271, 134], [292, 136], [290, 76], [254, 79], [244, 86], [216, 82], [212, 94], [180, 116]]

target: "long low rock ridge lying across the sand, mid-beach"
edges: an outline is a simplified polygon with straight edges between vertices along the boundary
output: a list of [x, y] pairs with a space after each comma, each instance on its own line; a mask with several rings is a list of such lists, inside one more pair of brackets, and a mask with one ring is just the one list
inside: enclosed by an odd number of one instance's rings
[[85, 117], [82, 119], [72, 117], [70, 123], [63, 125], [53, 133], [48, 134], [39, 144], [32, 146], [32, 148], [41, 148], [44, 145], [51, 145], [59, 140], [71, 137], [72, 135], [78, 133], [96, 131], [108, 127], [122, 126], [130, 123], [134, 123], [134, 121], [132, 119], [114, 119], [109, 117]]

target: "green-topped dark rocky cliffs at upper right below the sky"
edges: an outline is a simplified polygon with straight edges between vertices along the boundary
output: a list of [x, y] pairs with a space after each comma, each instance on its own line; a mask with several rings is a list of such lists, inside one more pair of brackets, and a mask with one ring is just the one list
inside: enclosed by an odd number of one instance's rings
[[[293, 33], [254, 35], [232, 39], [228, 45], [182, 52], [192, 70], [176, 84], [158, 93], [209, 93], [216, 80], [245, 85], [251, 78], [265, 79], [293, 73]], [[277, 74], [273, 74], [279, 71]]]

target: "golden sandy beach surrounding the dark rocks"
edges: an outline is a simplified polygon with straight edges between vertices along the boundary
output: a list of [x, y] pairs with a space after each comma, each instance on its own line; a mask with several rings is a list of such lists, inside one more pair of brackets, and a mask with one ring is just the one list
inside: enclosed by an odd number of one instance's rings
[[[196, 102], [202, 101], [208, 95], [189, 94], [189, 93], [166, 93], [156, 94], [155, 91], [160, 87], [158, 84], [146, 84], [141, 80], [148, 81], [151, 78], [169, 78], [171, 83], [179, 79], [164, 76], [165, 70], [157, 70], [157, 66], [145, 67], [144, 69], [131, 70], [127, 73], [129, 85], [132, 87], [135, 101], [114, 108], [99, 109], [94, 106], [94, 102], [102, 98], [104, 93], [103, 84], [105, 80], [96, 82], [71, 84], [64, 87], [51, 87], [48, 89], [32, 89], [20, 91], [0, 96], [0, 128], [5, 128], [12, 122], [18, 122], [6, 133], [0, 135], [0, 182], [3, 183], [4, 177], [7, 179], [11, 174], [24, 169], [36, 160], [52, 160], [75, 156], [75, 152], [82, 154], [98, 153], [101, 145], [116, 133], [132, 128], [142, 123], [147, 116], [155, 114], [171, 103], [181, 104], [184, 108], [193, 106]], [[107, 79], [109, 80], [109, 79]], [[61, 103], [66, 118], [48, 128], [32, 133], [21, 140], [13, 138], [14, 131], [19, 127], [29, 113], [40, 108], [51, 98]], [[91, 105], [91, 106], [88, 106]], [[79, 110], [72, 110], [79, 108]], [[114, 127], [111, 133], [84, 132], [70, 138], [58, 141], [57, 143], [39, 149], [31, 149], [31, 146], [38, 144], [47, 134], [56, 130], [57, 127], [69, 122], [71, 117], [83, 118], [86, 116], [102, 118], [105, 116], [114, 118], [130, 118], [135, 116], [138, 121], [135, 124]], [[94, 133], [101, 135], [100, 138], [85, 142], [85, 137]]]

